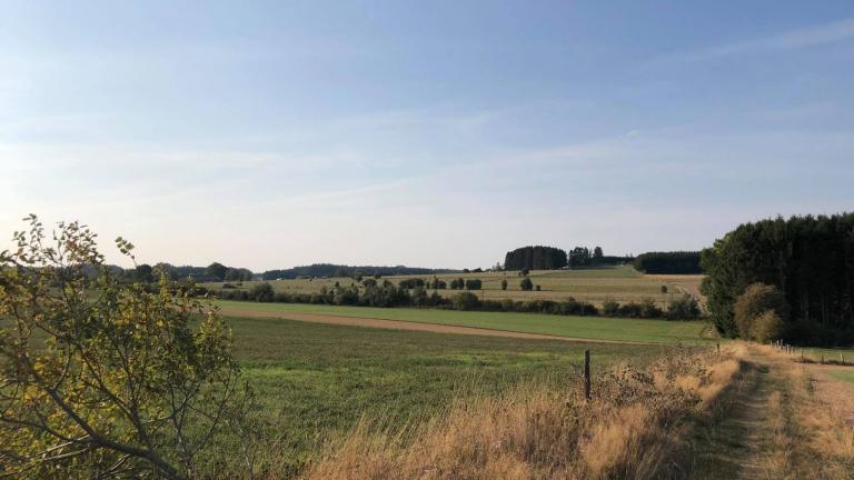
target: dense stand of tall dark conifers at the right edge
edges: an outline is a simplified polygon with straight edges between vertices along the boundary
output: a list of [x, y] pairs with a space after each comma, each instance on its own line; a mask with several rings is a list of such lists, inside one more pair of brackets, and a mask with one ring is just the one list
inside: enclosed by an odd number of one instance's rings
[[717, 330], [738, 336], [735, 306], [751, 286], [785, 298], [781, 336], [801, 344], [854, 342], [854, 213], [745, 223], [703, 251]]

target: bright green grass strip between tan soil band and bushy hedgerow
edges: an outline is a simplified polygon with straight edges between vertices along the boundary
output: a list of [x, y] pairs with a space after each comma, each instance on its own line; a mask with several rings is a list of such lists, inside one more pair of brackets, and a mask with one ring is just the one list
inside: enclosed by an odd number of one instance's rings
[[538, 313], [465, 312], [436, 309], [384, 309], [239, 301], [218, 301], [217, 304], [226, 316], [251, 312], [286, 317], [288, 312], [301, 312], [637, 342], [694, 343], [703, 341], [701, 336], [708, 328], [708, 323], [702, 321], [563, 317]]

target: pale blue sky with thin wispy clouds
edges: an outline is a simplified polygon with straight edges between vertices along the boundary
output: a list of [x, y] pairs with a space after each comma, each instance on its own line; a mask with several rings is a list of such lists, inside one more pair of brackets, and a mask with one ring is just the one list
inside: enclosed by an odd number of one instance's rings
[[[489, 267], [854, 210], [854, 2], [0, 0], [0, 242]], [[3, 243], [0, 243], [2, 246]]]

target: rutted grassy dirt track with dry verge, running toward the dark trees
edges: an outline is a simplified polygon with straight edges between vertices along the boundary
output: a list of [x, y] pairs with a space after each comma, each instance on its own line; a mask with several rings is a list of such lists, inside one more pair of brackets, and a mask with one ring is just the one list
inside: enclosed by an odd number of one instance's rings
[[[833, 367], [794, 360], [767, 347], [747, 347], [741, 378], [695, 434], [692, 478], [854, 478], [846, 473], [844, 460], [852, 457], [850, 446], [838, 443], [834, 451], [842, 457], [824, 451], [827, 438], [852, 434], [854, 386], [828, 377], [826, 370]], [[822, 416], [828, 404], [837, 409]]]

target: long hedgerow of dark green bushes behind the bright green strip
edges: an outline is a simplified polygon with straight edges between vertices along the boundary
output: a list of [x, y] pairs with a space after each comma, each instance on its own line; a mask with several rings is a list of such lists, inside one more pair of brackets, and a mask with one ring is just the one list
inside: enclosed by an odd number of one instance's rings
[[[404, 280], [403, 286], [395, 286], [388, 280], [378, 282], [370, 278], [361, 284], [352, 282], [349, 286], [322, 287], [319, 292], [277, 292], [267, 282], [257, 283], [249, 290], [219, 290], [218, 297], [224, 300], [244, 300], [278, 303], [312, 303], [354, 307], [415, 307], [438, 308], [449, 310], [478, 310], [496, 312], [549, 313], [565, 316], [608, 316], [636, 318], [666, 318], [673, 320], [692, 320], [699, 317], [699, 308], [692, 297], [677, 299], [668, 304], [666, 310], [659, 309], [652, 300], [642, 303], [629, 302], [623, 306], [606, 302], [603, 310], [593, 303], [567, 298], [555, 300], [513, 299], [481, 300], [477, 294], [464, 291], [450, 298], [440, 296], [436, 290], [428, 292], [427, 282], [421, 280], [410, 282]], [[409, 288], [409, 286], [414, 286]], [[616, 306], [616, 307], [613, 307]]]

